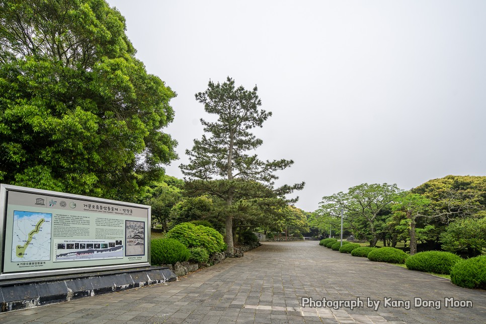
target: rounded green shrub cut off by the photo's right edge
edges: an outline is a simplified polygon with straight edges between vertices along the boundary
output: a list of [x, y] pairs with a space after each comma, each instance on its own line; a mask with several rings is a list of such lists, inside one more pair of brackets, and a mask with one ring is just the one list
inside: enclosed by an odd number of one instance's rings
[[451, 269], [451, 282], [464, 288], [486, 289], [486, 256], [457, 262]]

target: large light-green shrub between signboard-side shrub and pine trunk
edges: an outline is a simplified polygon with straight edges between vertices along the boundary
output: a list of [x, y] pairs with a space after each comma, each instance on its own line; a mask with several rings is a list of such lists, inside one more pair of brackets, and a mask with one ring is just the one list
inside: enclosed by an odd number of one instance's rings
[[180, 223], [167, 232], [166, 237], [175, 238], [188, 248], [204, 248], [212, 255], [224, 251], [223, 235], [211, 227]]

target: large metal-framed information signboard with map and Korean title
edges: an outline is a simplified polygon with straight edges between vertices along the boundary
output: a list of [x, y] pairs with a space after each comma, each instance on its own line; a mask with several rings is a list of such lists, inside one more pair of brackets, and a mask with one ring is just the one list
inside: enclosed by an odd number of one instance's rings
[[150, 265], [150, 206], [1, 185], [0, 279]]

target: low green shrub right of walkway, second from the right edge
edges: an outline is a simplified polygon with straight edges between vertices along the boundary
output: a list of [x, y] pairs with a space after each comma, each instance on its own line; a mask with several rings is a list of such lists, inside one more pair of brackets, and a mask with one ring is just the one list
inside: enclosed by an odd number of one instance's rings
[[448, 275], [461, 257], [450, 252], [426, 251], [407, 258], [405, 265], [410, 270], [442, 273]]

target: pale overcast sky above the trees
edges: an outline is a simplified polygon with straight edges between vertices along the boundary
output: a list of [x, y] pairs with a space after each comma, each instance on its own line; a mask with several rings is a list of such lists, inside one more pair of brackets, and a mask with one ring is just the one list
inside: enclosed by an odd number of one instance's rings
[[293, 159], [297, 207], [362, 183], [485, 175], [486, 2], [109, 0], [147, 71], [177, 92], [180, 159], [209, 79], [258, 86], [263, 159]]

